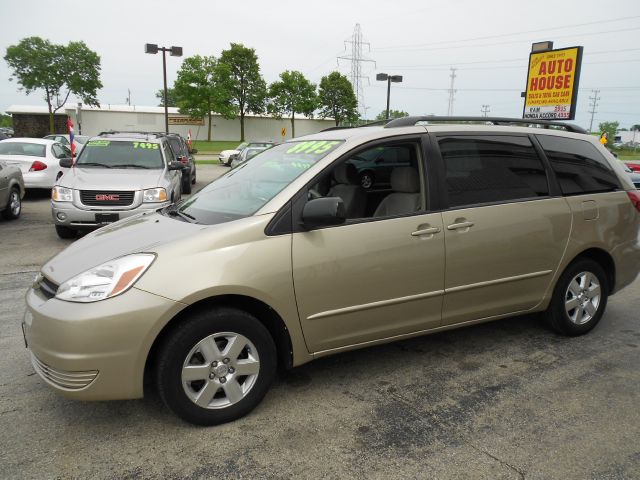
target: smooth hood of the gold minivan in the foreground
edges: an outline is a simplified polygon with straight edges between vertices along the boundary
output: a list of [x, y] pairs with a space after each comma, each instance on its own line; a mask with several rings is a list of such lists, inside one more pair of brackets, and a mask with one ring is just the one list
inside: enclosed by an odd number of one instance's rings
[[141, 213], [102, 227], [72, 243], [49, 260], [42, 267], [42, 273], [61, 284], [114, 258], [153, 252], [159, 245], [195, 235], [207, 227], [159, 213]]

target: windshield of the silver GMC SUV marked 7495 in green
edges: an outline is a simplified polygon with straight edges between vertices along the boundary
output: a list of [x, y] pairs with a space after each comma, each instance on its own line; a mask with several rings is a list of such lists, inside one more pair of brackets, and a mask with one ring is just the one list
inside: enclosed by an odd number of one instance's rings
[[76, 162], [78, 167], [163, 168], [158, 143], [89, 140]]

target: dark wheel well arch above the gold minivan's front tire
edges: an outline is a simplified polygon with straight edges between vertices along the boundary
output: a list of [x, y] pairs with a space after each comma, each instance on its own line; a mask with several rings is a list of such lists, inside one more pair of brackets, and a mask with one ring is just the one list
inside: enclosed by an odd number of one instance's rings
[[168, 335], [171, 335], [175, 329], [180, 328], [180, 324], [189, 318], [194, 312], [212, 310], [221, 307], [235, 308], [245, 311], [257, 318], [269, 331], [276, 345], [278, 363], [285, 369], [293, 366], [293, 349], [291, 346], [291, 338], [289, 330], [280, 315], [269, 305], [253, 297], [244, 295], [221, 295], [218, 297], [206, 298], [189, 305], [176, 315], [164, 328], [151, 346], [151, 350], [147, 355], [144, 370], [145, 385], [153, 378], [153, 370], [158, 355], [159, 347], [164, 343]]

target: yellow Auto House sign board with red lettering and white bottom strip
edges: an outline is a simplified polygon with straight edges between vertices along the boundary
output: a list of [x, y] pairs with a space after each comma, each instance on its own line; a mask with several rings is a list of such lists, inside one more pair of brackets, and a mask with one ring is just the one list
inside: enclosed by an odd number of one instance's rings
[[575, 118], [582, 47], [531, 53], [522, 118]]

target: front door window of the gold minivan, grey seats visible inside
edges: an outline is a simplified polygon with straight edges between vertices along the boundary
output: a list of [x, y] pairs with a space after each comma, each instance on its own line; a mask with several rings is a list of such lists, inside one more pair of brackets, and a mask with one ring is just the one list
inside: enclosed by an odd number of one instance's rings
[[419, 152], [417, 142], [358, 150], [327, 169], [308, 197], [339, 197], [347, 221], [419, 212], [425, 206]]

